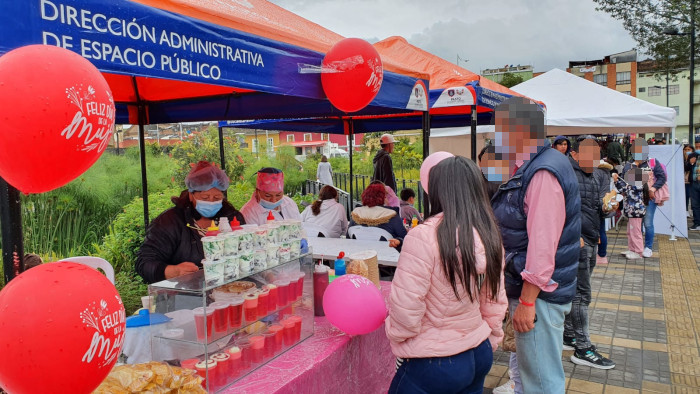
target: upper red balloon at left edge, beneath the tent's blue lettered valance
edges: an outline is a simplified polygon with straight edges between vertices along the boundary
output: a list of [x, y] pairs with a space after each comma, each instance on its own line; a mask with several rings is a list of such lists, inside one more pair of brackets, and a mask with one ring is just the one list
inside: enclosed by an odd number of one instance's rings
[[67, 49], [29, 45], [0, 57], [0, 176], [24, 193], [72, 181], [114, 130], [104, 77]]

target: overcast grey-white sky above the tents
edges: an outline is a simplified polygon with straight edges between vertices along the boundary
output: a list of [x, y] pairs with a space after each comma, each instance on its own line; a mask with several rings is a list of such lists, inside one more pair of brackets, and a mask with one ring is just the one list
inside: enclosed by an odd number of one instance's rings
[[[345, 37], [389, 36], [473, 72], [506, 64], [535, 71], [602, 59], [636, 46], [592, 0], [271, 0]], [[641, 60], [641, 59], [640, 59]]]

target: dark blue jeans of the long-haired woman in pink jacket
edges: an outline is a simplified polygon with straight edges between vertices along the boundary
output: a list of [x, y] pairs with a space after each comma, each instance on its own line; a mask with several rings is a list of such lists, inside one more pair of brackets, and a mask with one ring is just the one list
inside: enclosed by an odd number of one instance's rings
[[396, 371], [389, 394], [482, 393], [492, 363], [488, 339], [454, 356], [407, 358]]

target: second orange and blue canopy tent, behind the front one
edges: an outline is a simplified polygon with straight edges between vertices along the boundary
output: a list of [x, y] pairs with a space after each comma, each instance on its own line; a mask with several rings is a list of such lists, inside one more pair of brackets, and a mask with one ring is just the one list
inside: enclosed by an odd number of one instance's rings
[[[493, 111], [504, 100], [523, 96], [496, 82], [435, 56], [403, 37], [389, 37], [374, 44], [383, 60], [430, 75], [430, 128], [472, 127], [472, 158], [476, 158], [476, 126], [490, 124]], [[544, 106], [542, 103], [540, 105]], [[285, 131], [341, 133], [342, 117], [313, 119], [256, 119], [237, 122], [236, 127]], [[367, 133], [419, 129], [425, 123], [420, 113], [355, 116], [354, 131]], [[424, 141], [429, 135], [424, 135]], [[425, 146], [427, 147], [427, 145]], [[428, 152], [428, 149], [424, 149]]]

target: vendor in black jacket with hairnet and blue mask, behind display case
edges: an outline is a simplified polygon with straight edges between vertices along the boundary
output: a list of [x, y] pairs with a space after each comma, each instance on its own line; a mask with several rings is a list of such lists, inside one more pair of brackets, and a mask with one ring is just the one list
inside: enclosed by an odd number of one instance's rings
[[226, 200], [229, 179], [220, 168], [200, 161], [185, 178], [187, 190], [173, 197], [174, 207], [151, 222], [137, 253], [136, 272], [146, 283], [199, 270], [204, 259], [202, 236], [222, 217], [245, 219]]

